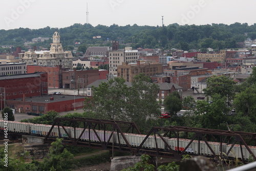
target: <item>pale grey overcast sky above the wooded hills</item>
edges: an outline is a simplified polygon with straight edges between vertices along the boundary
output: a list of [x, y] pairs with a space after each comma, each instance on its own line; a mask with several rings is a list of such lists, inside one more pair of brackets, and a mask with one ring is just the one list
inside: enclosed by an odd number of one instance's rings
[[0, 29], [233, 24], [255, 21], [255, 0], [1, 0]]

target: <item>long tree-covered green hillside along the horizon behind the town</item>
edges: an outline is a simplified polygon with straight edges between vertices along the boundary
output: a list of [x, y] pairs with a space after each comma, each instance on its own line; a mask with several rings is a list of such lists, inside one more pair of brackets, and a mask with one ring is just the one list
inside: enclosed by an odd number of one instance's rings
[[[29, 29], [19, 28], [0, 30], [0, 45], [23, 46], [24, 42], [35, 37], [52, 37], [55, 28]], [[171, 24], [164, 27], [118, 26], [110, 27], [90, 24], [74, 24], [59, 28], [63, 46], [75, 46], [75, 42], [87, 46], [111, 46], [112, 40], [119, 40], [121, 47], [130, 44], [133, 48], [180, 48], [182, 50], [212, 48], [236, 48], [237, 42], [246, 38], [256, 38], [256, 25], [234, 23], [231, 25], [185, 25]], [[247, 35], [245, 35], [247, 33]], [[101, 36], [93, 39], [93, 36]], [[109, 41], [107, 41], [109, 39]], [[36, 46], [48, 47], [50, 40], [37, 43]]]

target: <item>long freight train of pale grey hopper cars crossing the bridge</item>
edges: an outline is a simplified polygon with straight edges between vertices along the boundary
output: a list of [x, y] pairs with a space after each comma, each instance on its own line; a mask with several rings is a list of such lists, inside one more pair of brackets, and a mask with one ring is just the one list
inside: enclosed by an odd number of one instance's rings
[[[8, 125], [8, 126], [7, 126]], [[36, 135], [36, 136], [47, 136], [51, 129], [52, 125], [46, 125], [46, 124], [34, 124], [34, 123], [26, 123], [26, 122], [16, 122], [16, 121], [8, 121], [8, 124], [4, 120], [0, 120], [0, 130], [1, 131], [8, 131], [8, 132], [16, 132], [20, 134], [29, 134], [29, 135]], [[71, 138], [78, 138], [79, 135], [81, 135], [83, 129], [73, 127], [65, 126], [66, 131], [69, 135], [71, 135]], [[59, 130], [59, 131], [58, 131]], [[60, 133], [60, 135], [59, 135]], [[97, 135], [100, 139], [100, 141], [107, 141], [110, 139], [110, 143], [119, 143], [122, 145], [126, 145], [126, 142], [124, 138], [119, 134], [117, 135], [117, 132], [114, 132], [113, 136], [111, 136], [111, 131], [101, 131], [97, 130]], [[58, 129], [58, 126], [54, 126], [53, 130], [51, 131], [51, 137], [62, 137], [62, 138], [68, 138], [67, 133], [64, 131], [64, 129], [60, 126]], [[146, 135], [141, 134], [131, 134], [131, 133], [124, 133], [124, 136], [126, 140], [129, 142], [129, 144], [133, 147], [138, 147], [142, 143], [142, 141], [145, 139]], [[95, 141], [99, 142], [98, 137], [96, 134], [91, 130], [90, 136], [89, 136], [89, 130], [86, 129], [82, 136], [80, 137], [80, 140], [82, 141]], [[117, 137], [119, 137], [119, 141], [117, 140]], [[168, 143], [168, 145], [174, 150], [174, 151], [184, 151], [185, 147], [189, 144], [191, 140], [189, 139], [179, 139], [179, 147], [178, 147], [178, 141], [176, 138], [168, 138], [164, 137], [165, 141]], [[118, 142], [117, 142], [118, 141]], [[157, 144], [156, 144], [157, 141]], [[222, 148], [220, 147], [219, 142], [208, 142], [212, 150], [216, 155], [220, 155], [220, 149], [222, 149], [222, 153], [226, 154], [229, 149], [231, 148], [231, 144], [222, 143]], [[168, 150], [166, 148], [165, 143], [160, 137], [149, 136], [146, 141], [143, 143], [142, 147], [144, 148], [160, 148], [162, 150]], [[256, 146], [249, 146], [252, 153], [256, 156]], [[186, 149], [186, 154], [198, 154], [198, 141], [194, 140], [189, 147]], [[243, 151], [243, 157], [245, 160], [249, 160], [250, 153], [246, 149], [244, 145], [242, 145], [242, 151]], [[204, 156], [214, 156], [214, 154], [210, 151], [207, 144], [204, 141], [200, 141], [200, 155]], [[240, 145], [235, 144], [231, 150], [231, 152], [228, 154], [228, 157], [230, 158], [241, 158], [241, 148]]]

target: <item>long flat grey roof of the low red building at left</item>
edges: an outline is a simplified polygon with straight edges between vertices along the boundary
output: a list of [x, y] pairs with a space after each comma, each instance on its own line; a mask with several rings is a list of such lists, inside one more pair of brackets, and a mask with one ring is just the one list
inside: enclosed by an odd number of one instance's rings
[[[53, 97], [53, 100], [50, 100], [50, 98]], [[75, 99], [81, 99], [84, 98], [85, 96], [77, 96], [77, 95], [62, 95], [62, 94], [50, 94], [50, 95], [43, 95], [43, 96], [36, 96], [36, 97], [26, 97], [25, 101], [32, 101], [32, 102], [39, 102], [39, 103], [53, 103], [56, 101], [67, 101], [67, 100], [74, 100]], [[13, 99], [12, 99], [13, 100]], [[18, 98], [13, 101], [22, 101], [23, 98]], [[48, 101], [46, 101], [48, 100]]]

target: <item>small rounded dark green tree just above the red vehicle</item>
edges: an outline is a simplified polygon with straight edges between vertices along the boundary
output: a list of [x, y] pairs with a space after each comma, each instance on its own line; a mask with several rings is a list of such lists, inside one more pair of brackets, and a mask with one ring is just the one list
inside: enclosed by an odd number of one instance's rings
[[171, 118], [175, 116], [182, 109], [182, 100], [179, 93], [176, 91], [170, 93], [164, 99], [164, 106], [165, 110], [170, 113]]

